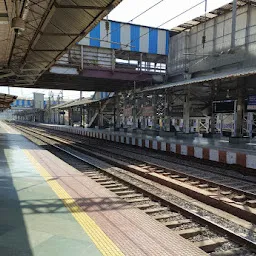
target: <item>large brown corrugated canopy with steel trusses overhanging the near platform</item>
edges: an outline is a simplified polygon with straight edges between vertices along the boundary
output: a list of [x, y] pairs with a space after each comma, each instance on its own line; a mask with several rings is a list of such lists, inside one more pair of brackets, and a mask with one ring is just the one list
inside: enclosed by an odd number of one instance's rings
[[[0, 1], [0, 86], [33, 88], [45, 70], [121, 1]], [[11, 28], [13, 18], [24, 20], [25, 30]]]

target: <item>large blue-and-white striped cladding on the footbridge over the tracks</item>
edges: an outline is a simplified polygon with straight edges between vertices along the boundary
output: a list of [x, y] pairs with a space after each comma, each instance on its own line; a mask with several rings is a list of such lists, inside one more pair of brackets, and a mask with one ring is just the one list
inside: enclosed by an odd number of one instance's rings
[[169, 30], [102, 20], [78, 44], [168, 55], [170, 35]]

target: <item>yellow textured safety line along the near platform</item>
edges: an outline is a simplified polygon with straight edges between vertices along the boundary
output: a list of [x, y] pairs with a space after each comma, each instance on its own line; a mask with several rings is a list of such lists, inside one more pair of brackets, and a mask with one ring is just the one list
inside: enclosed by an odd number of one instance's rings
[[83, 211], [75, 200], [64, 190], [64, 188], [48, 173], [45, 168], [36, 161], [36, 159], [24, 150], [26, 156], [34, 165], [36, 170], [49, 184], [52, 190], [63, 201], [64, 205], [72, 213], [76, 221], [82, 226], [84, 231], [92, 239], [96, 247], [103, 255], [124, 255], [121, 250], [110, 240], [110, 238], [100, 229], [100, 227]]

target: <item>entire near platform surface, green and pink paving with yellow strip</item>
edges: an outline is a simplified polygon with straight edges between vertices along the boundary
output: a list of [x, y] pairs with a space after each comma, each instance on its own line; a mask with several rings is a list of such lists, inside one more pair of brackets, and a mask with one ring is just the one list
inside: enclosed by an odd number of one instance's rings
[[0, 255], [206, 255], [0, 122]]

